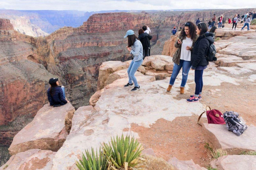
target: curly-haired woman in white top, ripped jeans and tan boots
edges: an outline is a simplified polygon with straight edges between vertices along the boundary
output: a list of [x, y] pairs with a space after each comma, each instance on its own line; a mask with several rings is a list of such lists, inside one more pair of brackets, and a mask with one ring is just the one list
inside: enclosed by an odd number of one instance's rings
[[172, 61], [173, 72], [169, 82], [167, 91], [169, 92], [174, 84], [177, 75], [182, 68], [182, 81], [180, 85], [180, 94], [184, 94], [184, 87], [188, 79], [188, 72], [191, 68], [191, 51], [193, 50], [194, 43], [196, 41], [196, 26], [192, 22], [186, 22], [185, 26], [181, 30], [179, 38], [175, 42], [175, 47], [178, 48], [175, 52]]

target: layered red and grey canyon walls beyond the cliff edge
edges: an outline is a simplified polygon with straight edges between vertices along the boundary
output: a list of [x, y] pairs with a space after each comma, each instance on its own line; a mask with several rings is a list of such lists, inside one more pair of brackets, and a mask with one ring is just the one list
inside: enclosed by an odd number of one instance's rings
[[[88, 105], [91, 95], [101, 89], [97, 86], [101, 63], [131, 59], [123, 38], [127, 30], [138, 35], [138, 30], [148, 25], [153, 36], [151, 54], [161, 54], [173, 26], [197, 18], [208, 22], [213, 14], [228, 18], [249, 10], [255, 9], [93, 14], [77, 28], [63, 27], [38, 38], [16, 31], [10, 19], [0, 19], [0, 146], [9, 146], [20, 130], [8, 128], [16, 126], [11, 122], [26, 115], [33, 117], [48, 102], [46, 90], [52, 77], [60, 78], [75, 108]], [[40, 24], [37, 26], [43, 31], [44, 23]], [[23, 127], [27, 123], [26, 119], [20, 121]]]

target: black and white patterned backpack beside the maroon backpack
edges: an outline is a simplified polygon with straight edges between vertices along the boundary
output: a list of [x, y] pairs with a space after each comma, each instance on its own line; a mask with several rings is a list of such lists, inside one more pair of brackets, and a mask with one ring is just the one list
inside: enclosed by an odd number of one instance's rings
[[239, 114], [237, 112], [225, 112], [223, 116], [227, 129], [236, 135], [240, 136], [247, 129], [245, 123], [238, 118]]

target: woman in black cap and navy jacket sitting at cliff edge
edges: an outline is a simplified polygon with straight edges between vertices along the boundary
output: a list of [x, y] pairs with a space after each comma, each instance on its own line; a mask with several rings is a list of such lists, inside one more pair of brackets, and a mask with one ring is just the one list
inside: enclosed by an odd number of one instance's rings
[[68, 103], [65, 98], [65, 89], [63, 86], [59, 86], [58, 78], [51, 78], [49, 80], [51, 87], [47, 90], [48, 100], [50, 106], [57, 107]]

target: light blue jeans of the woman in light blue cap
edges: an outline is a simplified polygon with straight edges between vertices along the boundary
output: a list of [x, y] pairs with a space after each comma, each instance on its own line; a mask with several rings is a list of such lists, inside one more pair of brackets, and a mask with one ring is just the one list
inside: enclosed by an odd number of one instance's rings
[[129, 77], [129, 83], [132, 84], [132, 82], [134, 83], [135, 87], [138, 87], [138, 82], [137, 79], [135, 77], [135, 73], [138, 70], [138, 68], [141, 66], [143, 62], [143, 59], [139, 60], [139, 61], [133, 61], [131, 62], [131, 64], [128, 67], [127, 73], [128, 73], [128, 77]]

